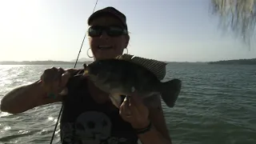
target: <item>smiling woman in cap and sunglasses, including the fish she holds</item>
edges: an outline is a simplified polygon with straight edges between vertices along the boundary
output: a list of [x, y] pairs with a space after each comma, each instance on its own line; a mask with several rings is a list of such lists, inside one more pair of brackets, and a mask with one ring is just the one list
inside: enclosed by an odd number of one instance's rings
[[181, 81], [160, 82], [165, 62], [123, 54], [130, 36], [120, 11], [98, 10], [88, 25], [94, 62], [82, 70], [45, 70], [37, 82], [6, 94], [1, 110], [18, 114], [62, 102], [62, 144], [170, 144], [160, 97], [173, 107]]

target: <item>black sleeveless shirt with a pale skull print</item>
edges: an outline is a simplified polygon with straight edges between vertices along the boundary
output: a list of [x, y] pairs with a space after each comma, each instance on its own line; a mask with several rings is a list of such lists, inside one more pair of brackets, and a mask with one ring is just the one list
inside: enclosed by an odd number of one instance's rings
[[60, 126], [62, 144], [137, 144], [134, 129], [122, 120], [119, 110], [113, 109], [111, 102], [95, 102], [86, 85], [82, 76], [70, 78], [67, 84]]

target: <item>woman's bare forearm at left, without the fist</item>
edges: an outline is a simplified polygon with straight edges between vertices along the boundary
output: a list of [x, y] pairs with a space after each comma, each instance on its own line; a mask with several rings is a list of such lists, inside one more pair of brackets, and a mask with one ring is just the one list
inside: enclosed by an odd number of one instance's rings
[[[74, 75], [80, 70], [69, 69], [67, 71], [70, 75]], [[62, 102], [62, 96], [58, 95], [57, 98], [49, 98], [42, 87], [42, 81], [38, 80], [30, 85], [19, 86], [11, 90], [2, 98], [0, 110], [10, 114], [19, 114], [36, 106], [54, 102]]]

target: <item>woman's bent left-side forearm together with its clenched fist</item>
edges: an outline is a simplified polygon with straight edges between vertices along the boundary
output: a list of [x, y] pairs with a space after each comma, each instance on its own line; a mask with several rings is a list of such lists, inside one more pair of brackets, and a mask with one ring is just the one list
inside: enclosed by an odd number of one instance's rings
[[[19, 114], [36, 106], [61, 102], [62, 98], [58, 95], [62, 95], [63, 92], [63, 95], [67, 94], [66, 84], [70, 75], [76, 72], [75, 69], [63, 70], [55, 67], [46, 69], [39, 81], [10, 90], [2, 98], [0, 110], [10, 114]], [[59, 94], [60, 92], [62, 93]], [[55, 98], [46, 98], [47, 95]]]

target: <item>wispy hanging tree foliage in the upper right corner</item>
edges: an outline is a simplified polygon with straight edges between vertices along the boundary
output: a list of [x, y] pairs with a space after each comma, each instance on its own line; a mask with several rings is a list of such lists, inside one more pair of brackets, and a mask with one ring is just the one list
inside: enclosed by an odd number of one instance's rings
[[211, 0], [210, 9], [220, 19], [222, 30], [231, 30], [248, 46], [254, 42], [256, 0]]

